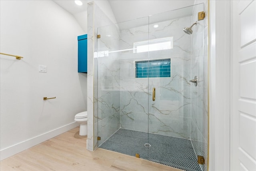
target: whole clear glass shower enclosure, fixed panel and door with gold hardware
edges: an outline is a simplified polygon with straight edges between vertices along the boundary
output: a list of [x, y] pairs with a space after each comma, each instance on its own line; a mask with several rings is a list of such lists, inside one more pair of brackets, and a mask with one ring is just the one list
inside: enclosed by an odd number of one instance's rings
[[201, 11], [204, 4], [98, 28], [98, 147], [203, 170], [197, 163], [204, 135]]

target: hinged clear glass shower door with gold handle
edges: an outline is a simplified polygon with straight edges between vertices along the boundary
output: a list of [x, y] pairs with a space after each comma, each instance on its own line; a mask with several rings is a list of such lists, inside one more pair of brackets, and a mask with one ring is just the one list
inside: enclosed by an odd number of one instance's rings
[[[204, 20], [198, 4], [149, 17], [148, 159], [203, 170]], [[183, 29], [193, 26], [193, 34]], [[157, 50], [157, 47], [160, 48]], [[197, 76], [197, 84], [190, 82]], [[200, 168], [201, 167], [201, 168]]]

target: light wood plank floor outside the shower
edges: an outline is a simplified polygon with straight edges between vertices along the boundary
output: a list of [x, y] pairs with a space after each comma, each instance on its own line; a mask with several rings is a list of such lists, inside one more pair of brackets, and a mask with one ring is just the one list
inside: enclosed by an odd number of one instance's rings
[[182, 171], [159, 163], [108, 151], [86, 150], [79, 127], [0, 162], [0, 171]]

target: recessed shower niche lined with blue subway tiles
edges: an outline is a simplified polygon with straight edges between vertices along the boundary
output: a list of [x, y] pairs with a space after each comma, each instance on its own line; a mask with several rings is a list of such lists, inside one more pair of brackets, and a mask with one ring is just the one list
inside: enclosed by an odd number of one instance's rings
[[136, 61], [135, 73], [135, 78], [171, 77], [171, 59]]

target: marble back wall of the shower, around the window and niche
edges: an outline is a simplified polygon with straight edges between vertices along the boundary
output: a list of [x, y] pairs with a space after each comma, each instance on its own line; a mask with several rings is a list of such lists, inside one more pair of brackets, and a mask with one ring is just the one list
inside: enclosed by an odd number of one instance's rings
[[[122, 128], [145, 132], [149, 130], [150, 133], [190, 138], [191, 36], [182, 31], [190, 23], [191, 16], [188, 16], [158, 22], [158, 28], [153, 28], [155, 23], [150, 24], [149, 32], [148, 25], [121, 31], [121, 49], [131, 49], [134, 42], [148, 40], [148, 36], [150, 40], [173, 37], [173, 48], [170, 50], [121, 53], [120, 126]], [[171, 78], [135, 78], [134, 61], [164, 58], [171, 58]], [[152, 101], [153, 87], [156, 88], [156, 101]]]

